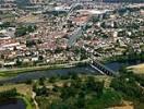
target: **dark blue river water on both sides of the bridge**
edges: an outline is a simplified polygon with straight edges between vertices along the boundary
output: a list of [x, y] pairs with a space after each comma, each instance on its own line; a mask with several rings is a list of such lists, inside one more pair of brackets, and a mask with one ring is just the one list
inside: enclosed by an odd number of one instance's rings
[[[110, 63], [107, 63], [105, 65], [108, 66], [109, 69], [113, 70], [115, 72], [118, 72], [123, 65], [129, 66], [129, 65], [134, 65], [134, 64], [139, 64], [139, 63], [135, 63], [135, 62], [130, 62], [130, 63], [110, 62]], [[12, 78], [0, 80], [0, 84], [19, 83], [19, 82], [25, 82], [27, 80], [37, 80], [40, 77], [51, 77], [51, 76], [56, 76], [56, 75], [57, 76], [68, 75], [70, 73], [95, 74], [95, 75], [99, 74], [98, 71], [91, 68], [89, 65], [72, 66], [72, 68], [67, 68], [67, 69], [26, 72], [26, 73], [19, 74], [17, 76], [14, 76]]]

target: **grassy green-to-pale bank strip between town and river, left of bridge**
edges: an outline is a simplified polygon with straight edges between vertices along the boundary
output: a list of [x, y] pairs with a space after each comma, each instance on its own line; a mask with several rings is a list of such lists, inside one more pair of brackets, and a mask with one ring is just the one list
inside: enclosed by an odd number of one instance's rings
[[55, 70], [55, 69], [67, 69], [76, 65], [82, 65], [88, 62], [89, 60], [83, 61], [73, 61], [71, 63], [65, 64], [52, 64], [52, 65], [40, 65], [40, 66], [28, 66], [28, 68], [16, 68], [16, 69], [1, 69], [0, 70], [0, 78], [9, 78], [16, 76], [26, 72], [35, 72], [35, 71], [46, 71], [46, 70]]

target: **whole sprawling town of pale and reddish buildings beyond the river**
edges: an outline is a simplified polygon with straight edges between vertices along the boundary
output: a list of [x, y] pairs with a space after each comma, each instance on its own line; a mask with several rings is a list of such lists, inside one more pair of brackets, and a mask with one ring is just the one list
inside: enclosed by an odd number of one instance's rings
[[21, 7], [4, 0], [0, 4], [1, 68], [82, 61], [88, 58], [84, 50], [99, 60], [144, 50], [143, 4], [92, 0], [29, 3]]

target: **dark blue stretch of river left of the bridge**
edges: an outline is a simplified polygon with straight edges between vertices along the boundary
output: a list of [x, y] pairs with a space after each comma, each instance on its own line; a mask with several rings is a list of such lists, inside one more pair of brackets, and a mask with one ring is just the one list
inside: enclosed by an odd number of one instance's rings
[[19, 74], [12, 78], [1, 80], [0, 84], [3, 83], [19, 83], [25, 82], [27, 80], [37, 80], [40, 77], [51, 77], [59, 75], [68, 75], [70, 73], [79, 73], [79, 74], [99, 74], [96, 70], [91, 68], [89, 65], [84, 66], [72, 66], [67, 69], [57, 69], [57, 70], [46, 70], [46, 71], [35, 71], [35, 72], [26, 72]]

